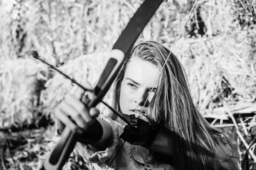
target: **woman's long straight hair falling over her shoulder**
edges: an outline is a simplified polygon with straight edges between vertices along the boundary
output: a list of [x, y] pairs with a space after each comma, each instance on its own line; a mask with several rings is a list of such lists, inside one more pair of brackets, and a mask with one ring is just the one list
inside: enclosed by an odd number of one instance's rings
[[[163, 68], [158, 79], [157, 91], [149, 105], [147, 118], [150, 122], [158, 122], [160, 130], [168, 136], [169, 146], [172, 147], [174, 155], [173, 167], [177, 170], [221, 170], [216, 153], [225, 155], [226, 144], [230, 145], [234, 157], [237, 157], [236, 150], [228, 139], [221, 140], [221, 133], [210, 127], [195, 107], [185, 71], [177, 57], [170, 54], [164, 65], [169, 53], [169, 49], [158, 42], [147, 41], [136, 45], [116, 77], [113, 107], [121, 112], [120, 88], [131, 58], [138, 57], [157, 65], [160, 69]], [[111, 114], [111, 118], [117, 119], [114, 114]], [[154, 161], [168, 163], [166, 156], [152, 153]]]

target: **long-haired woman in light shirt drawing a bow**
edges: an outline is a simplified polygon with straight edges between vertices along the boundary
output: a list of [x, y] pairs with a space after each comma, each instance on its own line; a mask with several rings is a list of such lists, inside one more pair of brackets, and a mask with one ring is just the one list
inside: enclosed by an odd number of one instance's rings
[[[169, 53], [153, 41], [142, 42], [131, 51], [116, 77], [113, 107], [126, 115], [140, 116], [159, 133], [147, 146], [130, 144], [133, 139], [123, 144], [124, 122], [114, 114], [111, 119], [97, 119], [104, 129], [102, 139], [96, 144], [76, 144], [79, 154], [97, 170], [108, 166], [120, 170], [239, 169], [235, 147], [196, 109], [179, 60], [171, 54], [166, 62]], [[88, 111], [84, 107], [81, 94], [81, 89], [67, 94], [56, 108], [60, 131], [66, 125], [82, 133], [99, 114], [96, 108]]]

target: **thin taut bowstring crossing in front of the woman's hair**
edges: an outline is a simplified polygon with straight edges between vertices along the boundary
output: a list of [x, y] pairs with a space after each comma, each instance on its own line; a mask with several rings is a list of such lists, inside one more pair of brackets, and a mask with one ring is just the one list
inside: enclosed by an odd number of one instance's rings
[[[194, 9], [195, 4], [197, 3], [197, 1], [198, 1], [198, 0], [195, 0], [195, 3], [194, 3], [194, 5], [193, 5], [192, 8], [191, 8], [188, 17], [186, 18], [186, 21], [185, 21], [185, 23], [183, 24], [183, 26], [182, 26], [182, 28], [181, 28], [181, 30], [180, 30], [180, 33], [178, 34], [178, 36], [177, 36], [177, 38], [176, 38], [176, 40], [175, 40], [175, 42], [174, 42], [174, 45], [172, 46], [172, 49], [171, 49], [171, 51], [170, 51], [168, 57], [166, 58], [165, 63], [163, 64], [163, 67], [161, 68], [161, 71], [160, 71], [160, 73], [159, 73], [159, 75], [158, 75], [158, 78], [157, 78], [156, 82], [154, 83], [154, 86], [157, 85], [158, 79], [159, 79], [159, 77], [160, 77], [160, 75], [161, 75], [161, 73], [162, 73], [162, 71], [163, 71], [163, 68], [164, 68], [164, 66], [166, 65], [166, 63], [167, 63], [169, 57], [171, 56], [172, 50], [173, 50], [173, 48], [175, 47], [177, 41], [179, 40], [180, 34], [182, 33], [183, 28], [185, 27], [186, 23], [188, 22], [189, 17], [190, 17], [190, 14], [192, 13], [192, 11], [193, 11], [193, 9]], [[153, 87], [154, 87], [154, 86], [153, 86]], [[142, 111], [143, 111], [143, 108], [145, 107], [145, 104], [147, 103], [148, 98], [149, 98], [149, 96], [151, 95], [152, 91], [153, 91], [153, 88], [151, 88], [151, 90], [150, 90], [150, 92], [149, 92], [149, 94], [148, 94], [148, 97], [147, 97], [147, 99], [145, 100], [145, 103], [144, 103], [144, 105], [143, 105], [143, 107], [142, 107], [142, 109], [141, 109], [141, 111], [140, 111], [140, 114], [139, 114], [139, 116], [137, 117], [137, 119], [139, 119], [139, 117], [140, 117], [140, 115], [141, 115], [141, 113], [142, 113]], [[138, 108], [138, 107], [137, 107], [137, 108]]]

